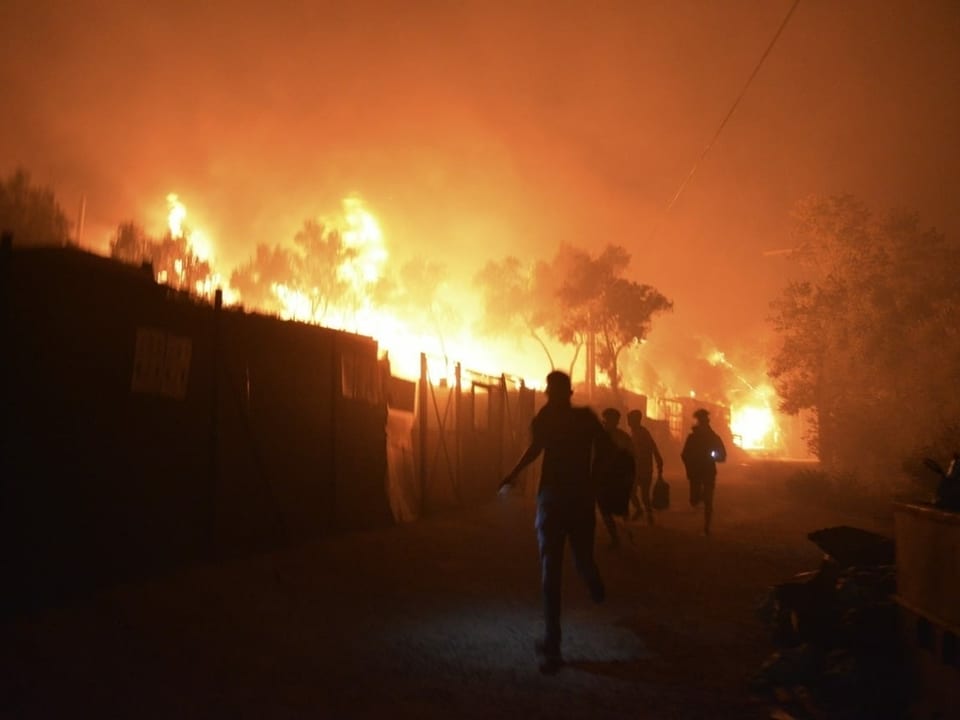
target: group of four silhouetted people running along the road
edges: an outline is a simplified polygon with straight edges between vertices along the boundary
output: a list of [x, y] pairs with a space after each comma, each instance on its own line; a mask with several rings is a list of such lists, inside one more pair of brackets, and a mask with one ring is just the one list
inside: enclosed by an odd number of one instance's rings
[[[545, 632], [537, 642], [540, 669], [555, 672], [563, 665], [561, 653], [560, 588], [563, 553], [567, 540], [574, 564], [594, 602], [606, 597], [606, 589], [594, 560], [597, 506], [611, 536], [619, 544], [615, 514], [632, 519], [646, 517], [654, 523], [657, 483], [663, 483], [663, 456], [650, 431], [643, 426], [638, 410], [627, 413], [630, 433], [622, 430], [621, 414], [615, 408], [603, 411], [601, 422], [588, 407], [572, 403], [570, 376], [560, 371], [547, 375], [547, 402], [530, 424], [531, 441], [514, 468], [507, 473], [501, 490], [511, 487], [520, 473], [541, 455], [540, 484], [537, 490], [536, 523], [540, 546]], [[684, 442], [681, 458], [690, 482], [690, 503], [704, 507], [705, 535], [710, 533], [717, 463], [726, 459], [721, 438], [710, 427], [706, 410], [694, 412], [695, 425]], [[609, 490], [623, 484], [623, 507], [604, 502]], [[614, 492], [616, 494], [616, 492]]]

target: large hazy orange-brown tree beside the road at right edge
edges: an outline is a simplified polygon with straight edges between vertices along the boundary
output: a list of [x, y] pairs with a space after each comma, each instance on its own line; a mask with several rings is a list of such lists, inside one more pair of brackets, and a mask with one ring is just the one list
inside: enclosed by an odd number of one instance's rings
[[890, 463], [960, 419], [943, 392], [960, 380], [960, 244], [851, 196], [802, 203], [795, 234], [803, 277], [772, 303], [781, 409], [815, 411], [830, 467]]

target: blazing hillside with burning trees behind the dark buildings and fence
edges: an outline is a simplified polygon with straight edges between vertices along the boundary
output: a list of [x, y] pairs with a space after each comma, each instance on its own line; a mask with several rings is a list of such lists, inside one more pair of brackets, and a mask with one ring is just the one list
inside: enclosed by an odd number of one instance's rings
[[[439, 263], [422, 257], [400, 261], [372, 210], [350, 196], [337, 213], [305, 221], [292, 242], [259, 244], [228, 273], [218, 268], [215, 243], [191, 225], [178, 195], [170, 193], [167, 204], [167, 227], [158, 240], [127, 224], [112, 246], [121, 259], [152, 262], [160, 283], [207, 298], [221, 288], [228, 305], [373, 337], [392, 372], [408, 379], [419, 377], [421, 353], [434, 382], [452, 382], [459, 362], [468, 371], [494, 376], [510, 370], [536, 387], [545, 367], [582, 376], [592, 363], [607, 384], [613, 385], [615, 376], [615, 387], [651, 398], [689, 393], [728, 404], [736, 443], [747, 450], [780, 447], [768, 385], [749, 380], [719, 351], [681, 353], [657, 339], [647, 343], [650, 318], [670, 303], [655, 289], [621, 277], [629, 256], [614, 246], [597, 257], [561, 248], [551, 263], [530, 266], [512, 258], [490, 262], [474, 287], [454, 284]], [[620, 308], [646, 303], [647, 309], [626, 334], [617, 326], [621, 310], [612, 313], [613, 320], [597, 326], [591, 349], [587, 326], [576, 321], [578, 312], [598, 317], [602, 304], [612, 302], [596, 293], [597, 286], [620, 288], [613, 296]], [[576, 312], [561, 309], [558, 293], [576, 295], [581, 306]], [[653, 364], [670, 367], [672, 374]], [[699, 387], [688, 390], [694, 382]], [[648, 408], [651, 417], [657, 418], [657, 407]]]

